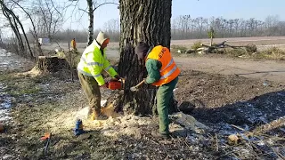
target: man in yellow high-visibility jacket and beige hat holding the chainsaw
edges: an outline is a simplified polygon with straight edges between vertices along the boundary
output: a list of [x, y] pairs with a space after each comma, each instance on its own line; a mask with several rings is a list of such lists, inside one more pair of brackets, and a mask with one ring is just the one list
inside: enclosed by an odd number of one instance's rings
[[102, 69], [110, 76], [120, 79], [106, 58], [105, 48], [109, 41], [109, 37], [100, 32], [93, 43], [87, 46], [77, 66], [80, 84], [89, 101], [88, 116], [92, 120], [105, 118], [101, 114], [100, 87], [107, 87], [108, 83], [102, 77]]

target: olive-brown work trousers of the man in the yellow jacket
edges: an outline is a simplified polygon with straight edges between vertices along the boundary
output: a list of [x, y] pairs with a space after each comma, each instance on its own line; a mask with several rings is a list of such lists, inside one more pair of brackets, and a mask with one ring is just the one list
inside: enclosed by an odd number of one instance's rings
[[101, 92], [100, 86], [93, 76], [85, 76], [78, 72], [80, 84], [89, 102], [89, 113], [95, 112], [96, 115], [101, 112]]

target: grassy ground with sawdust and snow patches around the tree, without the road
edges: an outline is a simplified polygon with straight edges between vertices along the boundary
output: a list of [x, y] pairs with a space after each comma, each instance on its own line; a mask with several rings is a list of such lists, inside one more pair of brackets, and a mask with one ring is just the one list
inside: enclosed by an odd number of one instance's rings
[[[258, 150], [248, 148], [247, 142], [233, 147], [227, 145], [225, 141], [228, 133], [223, 132], [237, 131], [223, 127], [229, 123], [256, 128], [260, 124], [265, 124], [259, 121], [259, 112], [270, 113], [271, 116], [265, 117], [269, 122], [284, 116], [282, 108], [285, 104], [282, 101], [284, 86], [280, 84], [272, 83], [270, 86], [264, 86], [261, 82], [243, 77], [183, 71], [175, 95], [180, 102], [183, 100], [193, 102], [194, 99], [199, 101], [192, 114], [202, 123], [211, 126], [212, 129], [206, 134], [192, 134], [188, 131], [186, 137], [159, 140], [151, 136], [151, 131], [158, 128], [158, 119], [124, 116], [122, 119], [110, 119], [110, 123], [104, 126], [101, 124], [95, 127], [85, 126], [87, 133], [76, 137], [72, 128], [78, 110], [86, 106], [85, 96], [77, 80], [72, 83], [64, 78], [69, 76], [62, 76], [63, 73], [35, 76], [21, 69], [2, 72], [0, 82], [7, 86], [5, 92], [15, 97], [12, 101], [12, 117], [15, 123], [4, 124], [6, 131], [0, 137], [1, 155], [10, 155], [12, 159], [277, 157], [263, 154], [264, 151], [273, 152], [272, 149], [260, 148], [262, 150], [260, 153]], [[108, 95], [108, 92], [102, 91], [102, 97]], [[266, 101], [261, 103], [263, 100], [270, 100], [270, 103]], [[252, 104], [253, 107], [247, 107], [248, 104]], [[260, 107], [262, 104], [271, 106]], [[281, 111], [275, 112], [277, 107], [281, 107]], [[212, 108], [216, 109], [211, 110]], [[256, 110], [251, 110], [252, 108]], [[272, 109], [271, 112], [268, 112], [269, 108]], [[247, 114], [239, 114], [240, 112]], [[213, 114], [216, 116], [211, 116]], [[250, 115], [256, 117], [252, 122], [248, 120], [252, 118]], [[46, 156], [43, 154], [44, 142], [39, 140], [45, 132], [53, 133], [49, 153]], [[127, 134], [128, 132], [130, 134]], [[281, 138], [284, 134], [277, 129], [273, 135]], [[284, 142], [281, 139], [276, 144]], [[249, 150], [248, 154], [242, 152], [241, 148]], [[282, 154], [281, 150], [278, 151]]]

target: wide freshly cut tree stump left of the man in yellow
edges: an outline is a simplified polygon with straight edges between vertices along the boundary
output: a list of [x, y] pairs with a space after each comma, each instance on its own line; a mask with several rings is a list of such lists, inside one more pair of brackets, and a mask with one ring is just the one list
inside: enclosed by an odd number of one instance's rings
[[37, 64], [33, 69], [38, 69], [43, 72], [57, 72], [62, 69], [70, 69], [69, 62], [57, 56], [39, 56]]

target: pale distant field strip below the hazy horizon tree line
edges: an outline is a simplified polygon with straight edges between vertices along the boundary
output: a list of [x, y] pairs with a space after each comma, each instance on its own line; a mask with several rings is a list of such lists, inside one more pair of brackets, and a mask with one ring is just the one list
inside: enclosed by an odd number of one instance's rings
[[[281, 49], [285, 49], [285, 36], [260, 36], [260, 37], [235, 37], [235, 38], [215, 38], [214, 43], [221, 43], [224, 40], [228, 40], [227, 44], [231, 45], [247, 45], [256, 44], [259, 50], [265, 50], [266, 48], [276, 46]], [[192, 44], [196, 42], [202, 42], [203, 44], [209, 44], [209, 39], [188, 39], [188, 40], [172, 40], [171, 44], [183, 45], [190, 48]], [[59, 43], [61, 48], [68, 50], [68, 42]], [[77, 43], [77, 49], [79, 52], [83, 52], [85, 49], [85, 43]], [[108, 56], [110, 58], [118, 57], [118, 42], [110, 42], [108, 48]], [[43, 45], [46, 50], [54, 50], [58, 47], [58, 44]]]

